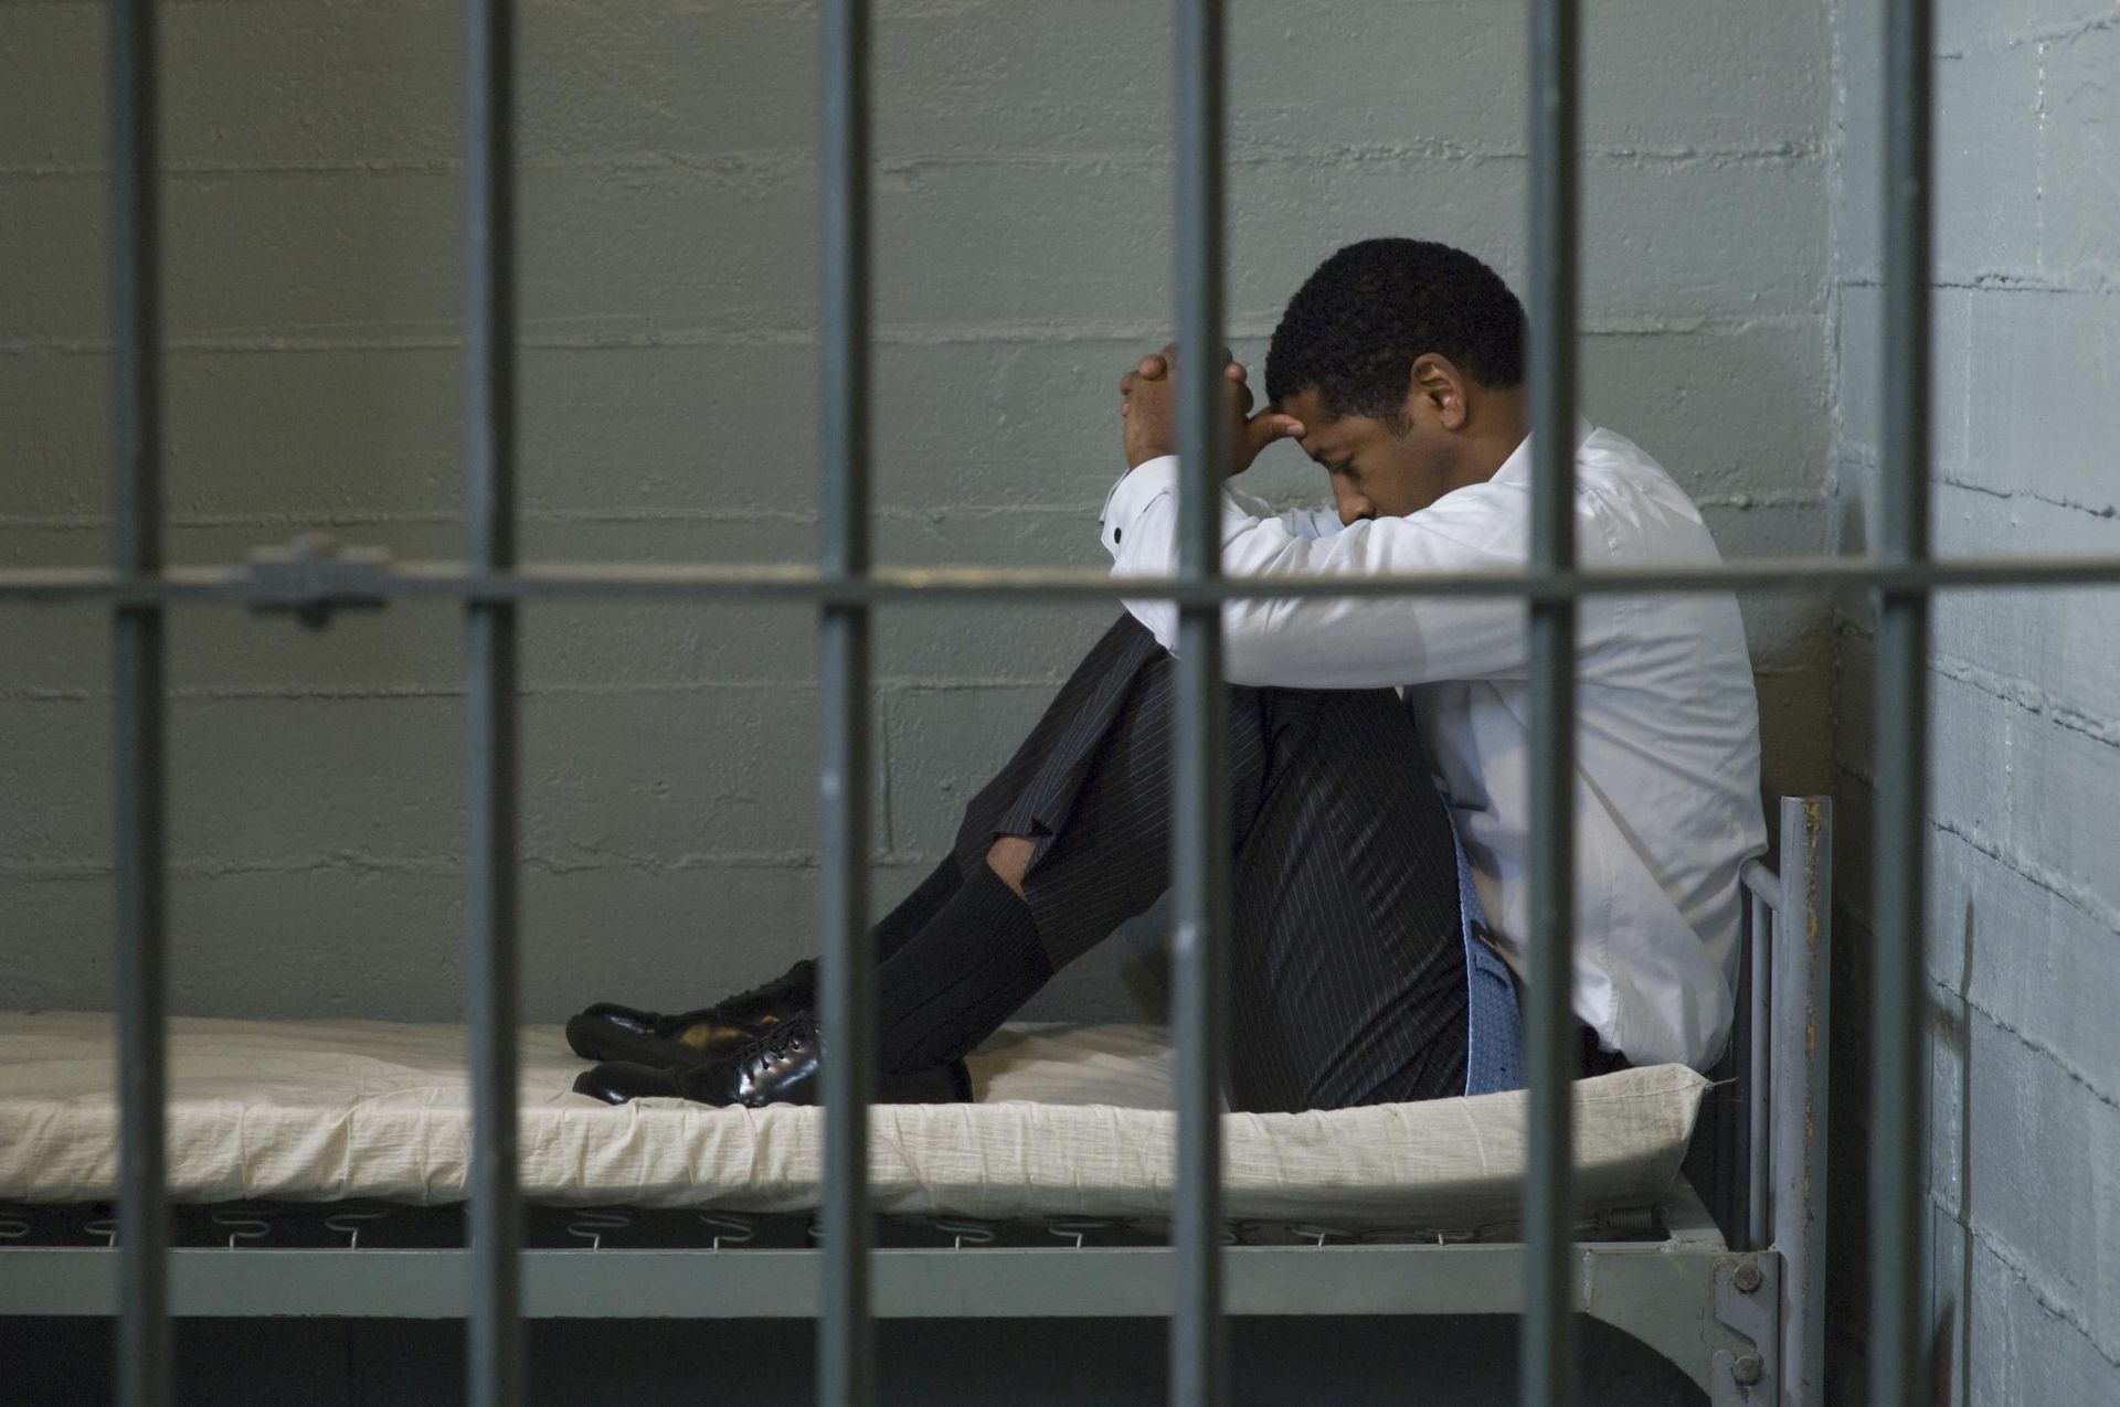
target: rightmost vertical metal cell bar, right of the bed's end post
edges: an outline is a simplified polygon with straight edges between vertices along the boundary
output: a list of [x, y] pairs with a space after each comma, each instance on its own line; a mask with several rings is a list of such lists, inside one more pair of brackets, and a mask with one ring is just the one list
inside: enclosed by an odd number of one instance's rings
[[[1929, 0], [1885, 11], [1885, 420], [1878, 555], [1929, 555]], [[1887, 589], [1876, 629], [1876, 979], [1870, 1030], [1870, 1401], [1927, 1403], [1923, 1352], [1923, 877], [1929, 595]]]

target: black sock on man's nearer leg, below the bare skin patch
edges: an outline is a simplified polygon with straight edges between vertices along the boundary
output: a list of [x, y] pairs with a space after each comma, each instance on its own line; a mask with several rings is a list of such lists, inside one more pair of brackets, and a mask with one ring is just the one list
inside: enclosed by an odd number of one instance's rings
[[994, 1034], [1054, 975], [1030, 905], [984, 860], [876, 973], [878, 1068], [931, 1070]]

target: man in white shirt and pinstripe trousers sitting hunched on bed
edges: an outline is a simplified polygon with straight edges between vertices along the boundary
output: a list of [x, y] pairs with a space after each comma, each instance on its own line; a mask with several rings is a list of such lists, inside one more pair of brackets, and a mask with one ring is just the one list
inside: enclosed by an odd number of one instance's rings
[[[1128, 473], [1113, 574], [1177, 564], [1174, 360], [1119, 384]], [[1242, 576], [1522, 568], [1531, 538], [1524, 309], [1469, 254], [1370, 239], [1295, 292], [1268, 403], [1225, 367], [1230, 473], [1293, 439], [1329, 509], [1227, 492]], [[1685, 492], [1577, 426], [1586, 568], [1719, 562]], [[1522, 970], [1526, 610], [1520, 600], [1244, 600], [1227, 640], [1234, 865], [1227, 1100], [1344, 1108], [1463, 1093], [1467, 973], [1454, 841]], [[1575, 990], [1584, 1072], [1707, 1068], [1730, 1032], [1738, 869], [1766, 848], [1745, 629], [1728, 593], [1579, 606]], [[1168, 884], [1177, 608], [1126, 615], [965, 807], [956, 845], [876, 926], [878, 1100], [969, 1100], [962, 1055]], [[613, 1104], [814, 1104], [831, 1032], [812, 962], [712, 1007], [589, 1007], [575, 1089]]]

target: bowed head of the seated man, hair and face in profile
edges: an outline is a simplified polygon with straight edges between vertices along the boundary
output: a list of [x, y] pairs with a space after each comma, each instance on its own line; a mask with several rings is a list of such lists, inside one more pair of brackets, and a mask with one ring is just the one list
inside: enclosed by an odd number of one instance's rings
[[1524, 305], [1448, 244], [1363, 239], [1304, 280], [1266, 396], [1304, 424], [1340, 519], [1397, 517], [1478, 483], [1524, 437]]

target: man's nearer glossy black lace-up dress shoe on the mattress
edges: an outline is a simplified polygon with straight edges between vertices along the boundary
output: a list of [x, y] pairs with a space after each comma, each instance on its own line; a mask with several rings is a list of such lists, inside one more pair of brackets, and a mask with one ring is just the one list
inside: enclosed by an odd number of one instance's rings
[[[604, 1062], [575, 1079], [575, 1093], [606, 1104], [678, 1096], [697, 1104], [823, 1104], [825, 1043], [816, 1017], [801, 1013], [774, 1026], [731, 1055], [697, 1066], [664, 1068]], [[878, 1104], [969, 1104], [971, 1072], [962, 1059], [914, 1074], [876, 1076]]]

